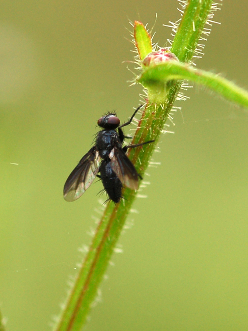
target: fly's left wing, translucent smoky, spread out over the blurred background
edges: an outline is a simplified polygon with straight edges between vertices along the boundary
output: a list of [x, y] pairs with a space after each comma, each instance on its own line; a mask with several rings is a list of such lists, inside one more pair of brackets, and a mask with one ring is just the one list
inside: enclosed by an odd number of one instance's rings
[[67, 178], [64, 186], [64, 198], [66, 201], [77, 200], [84, 194], [95, 179], [99, 171], [100, 162], [101, 157], [94, 146], [81, 158], [76, 168]]

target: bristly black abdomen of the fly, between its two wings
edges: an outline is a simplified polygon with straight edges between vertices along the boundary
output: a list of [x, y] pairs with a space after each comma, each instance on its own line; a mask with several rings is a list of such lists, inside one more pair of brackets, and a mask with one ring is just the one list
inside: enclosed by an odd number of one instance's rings
[[100, 166], [102, 184], [111, 200], [115, 203], [121, 199], [122, 183], [112, 170], [110, 161], [103, 160]]

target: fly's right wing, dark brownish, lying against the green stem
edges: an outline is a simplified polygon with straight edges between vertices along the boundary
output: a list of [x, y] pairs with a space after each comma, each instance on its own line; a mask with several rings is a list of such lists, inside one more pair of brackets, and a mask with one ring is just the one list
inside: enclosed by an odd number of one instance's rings
[[122, 184], [131, 189], [139, 187], [139, 175], [125, 152], [118, 147], [113, 148], [109, 154], [111, 168], [116, 173]]

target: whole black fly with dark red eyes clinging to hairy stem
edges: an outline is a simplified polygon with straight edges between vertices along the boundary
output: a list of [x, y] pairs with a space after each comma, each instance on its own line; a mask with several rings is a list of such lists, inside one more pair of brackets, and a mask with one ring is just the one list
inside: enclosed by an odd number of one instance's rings
[[[122, 198], [123, 185], [135, 190], [138, 188], [140, 175], [126, 156], [126, 151], [128, 148], [152, 143], [153, 140], [143, 144], [122, 147], [125, 135], [121, 128], [131, 123], [141, 107], [142, 105], [135, 110], [130, 120], [122, 125], [120, 125], [120, 120], [115, 113], [104, 115], [98, 120], [97, 124], [103, 130], [97, 133], [95, 145], [81, 158], [67, 178], [64, 186], [66, 201], [80, 198], [96, 176], [101, 179], [109, 199], [115, 203], [118, 203]], [[118, 132], [116, 131], [117, 128]]]

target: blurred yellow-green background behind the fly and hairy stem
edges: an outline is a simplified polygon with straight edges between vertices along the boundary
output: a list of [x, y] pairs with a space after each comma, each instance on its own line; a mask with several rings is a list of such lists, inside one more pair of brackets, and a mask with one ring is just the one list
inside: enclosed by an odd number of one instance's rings
[[[49, 330], [99, 208], [93, 184], [74, 203], [64, 182], [98, 118], [140, 104], [130, 20], [166, 44], [176, 0], [9, 1], [0, 13], [0, 302], [12, 331]], [[247, 7], [224, 0], [199, 68], [247, 85]], [[201, 42], [202, 43], [202, 42]], [[128, 65], [132, 68], [131, 64]], [[197, 87], [161, 136], [157, 168], [113, 256], [85, 330], [248, 329], [247, 112]], [[11, 163], [18, 163], [18, 166]], [[104, 198], [103, 198], [104, 199]], [[75, 270], [76, 269], [76, 270]]]

